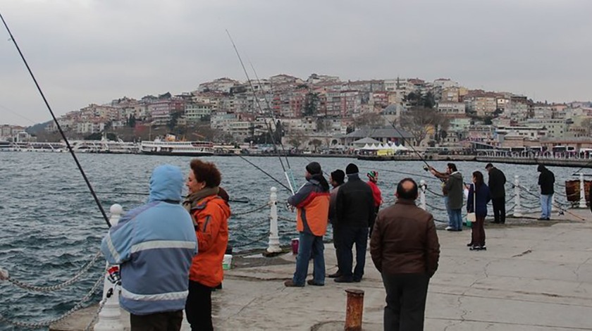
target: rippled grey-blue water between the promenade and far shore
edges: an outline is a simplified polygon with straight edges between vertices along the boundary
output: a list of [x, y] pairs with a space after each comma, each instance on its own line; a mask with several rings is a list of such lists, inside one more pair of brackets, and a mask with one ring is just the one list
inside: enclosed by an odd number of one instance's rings
[[[189, 157], [79, 154], [78, 158], [94, 189], [100, 192], [99, 199], [107, 213], [112, 204], [121, 204], [129, 210], [144, 203], [147, 196], [117, 192], [148, 192], [149, 176], [157, 165], [179, 165], [185, 172], [189, 169]], [[262, 206], [269, 199], [269, 189], [278, 187], [278, 199], [285, 201], [288, 192], [269, 177], [238, 157], [206, 157], [218, 165], [223, 174], [222, 186], [232, 199], [248, 199], [249, 204], [231, 204], [233, 212], [240, 213]], [[266, 172], [283, 180], [283, 170], [278, 158], [249, 157]], [[313, 159], [290, 158], [290, 165], [302, 184], [304, 166]], [[416, 180], [426, 180], [428, 187], [440, 192], [438, 180], [426, 173], [419, 161], [372, 162], [352, 158], [314, 158], [323, 170], [345, 169], [347, 163], [359, 165], [363, 173], [378, 169], [378, 185], [383, 199], [393, 201], [396, 183], [413, 174]], [[446, 162], [433, 162], [443, 170]], [[469, 182], [470, 173], [481, 170], [486, 173], [485, 163], [457, 162], [460, 172]], [[498, 165], [509, 181], [519, 175], [522, 185], [536, 194], [538, 173], [536, 165]], [[572, 179], [574, 168], [550, 167], [557, 182]], [[386, 171], [390, 170], [390, 171]], [[366, 177], [364, 176], [364, 179]], [[507, 185], [508, 196], [512, 189]], [[557, 190], [562, 191], [558, 186]], [[428, 204], [442, 208], [442, 199], [428, 194]], [[534, 196], [530, 204], [535, 204]], [[558, 196], [558, 199], [560, 198]], [[510, 204], [510, 203], [509, 203]], [[280, 204], [280, 216], [294, 219]], [[433, 211], [438, 220], [445, 220], [442, 211]], [[0, 153], [0, 266], [10, 271], [11, 276], [33, 285], [49, 286], [72, 277], [98, 251], [101, 238], [107, 227], [82, 176], [69, 154], [2, 152]], [[263, 248], [264, 237], [269, 231], [269, 209], [256, 213], [235, 216], [230, 219], [230, 244], [235, 251]], [[296, 235], [295, 223], [280, 220], [280, 235], [283, 244]], [[0, 283], [0, 314], [23, 321], [39, 321], [55, 318], [68, 311], [101, 275], [104, 263], [97, 263], [81, 281], [66, 289], [50, 294], [31, 294], [8, 283]], [[371, 266], [368, 266], [371, 268]], [[289, 277], [290, 275], [286, 275]], [[94, 296], [92, 303], [99, 301]], [[16, 330], [0, 325], [0, 330]]]

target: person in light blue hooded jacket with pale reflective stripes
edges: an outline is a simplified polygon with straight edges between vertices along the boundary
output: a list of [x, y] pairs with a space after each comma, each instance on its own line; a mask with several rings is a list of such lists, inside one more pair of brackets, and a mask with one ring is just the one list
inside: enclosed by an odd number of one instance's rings
[[180, 205], [185, 177], [161, 165], [150, 179], [148, 203], [125, 213], [109, 230], [101, 251], [121, 268], [121, 307], [131, 330], [180, 330], [197, 253], [191, 216]]

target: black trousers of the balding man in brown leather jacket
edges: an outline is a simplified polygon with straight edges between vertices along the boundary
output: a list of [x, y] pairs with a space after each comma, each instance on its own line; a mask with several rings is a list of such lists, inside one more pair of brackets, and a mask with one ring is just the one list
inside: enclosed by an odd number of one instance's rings
[[386, 289], [385, 331], [423, 331], [430, 277], [425, 273], [382, 274]]

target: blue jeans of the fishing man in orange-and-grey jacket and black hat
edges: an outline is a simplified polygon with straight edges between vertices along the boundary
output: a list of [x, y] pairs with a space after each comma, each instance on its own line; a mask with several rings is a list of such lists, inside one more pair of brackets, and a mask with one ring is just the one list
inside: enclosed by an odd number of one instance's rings
[[298, 243], [298, 255], [296, 256], [296, 271], [292, 282], [297, 286], [304, 286], [307, 280], [308, 265], [312, 256], [312, 279], [316, 284], [325, 284], [325, 246], [323, 236], [315, 236], [311, 233], [300, 232]]

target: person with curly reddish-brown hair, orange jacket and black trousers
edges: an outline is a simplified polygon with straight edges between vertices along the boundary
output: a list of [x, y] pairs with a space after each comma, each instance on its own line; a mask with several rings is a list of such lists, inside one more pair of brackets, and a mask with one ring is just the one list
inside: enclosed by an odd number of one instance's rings
[[228, 194], [219, 187], [221, 174], [216, 165], [197, 158], [190, 163], [189, 195], [183, 206], [189, 211], [197, 255], [189, 273], [189, 295], [185, 303], [191, 330], [214, 330], [211, 321], [211, 292], [222, 283], [222, 260], [228, 244]]

